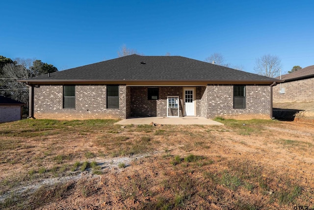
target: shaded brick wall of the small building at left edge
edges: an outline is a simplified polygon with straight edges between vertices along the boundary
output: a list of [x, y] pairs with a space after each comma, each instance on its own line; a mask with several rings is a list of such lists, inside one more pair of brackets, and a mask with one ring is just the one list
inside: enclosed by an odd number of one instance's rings
[[0, 123], [21, 120], [21, 106], [1, 105], [0, 106]]

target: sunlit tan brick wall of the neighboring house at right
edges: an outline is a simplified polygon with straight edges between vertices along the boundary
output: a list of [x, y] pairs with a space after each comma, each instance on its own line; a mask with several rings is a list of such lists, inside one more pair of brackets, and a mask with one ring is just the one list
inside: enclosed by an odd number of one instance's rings
[[[280, 94], [280, 85], [285, 89]], [[273, 102], [314, 101], [314, 78], [282, 83], [273, 87]]]

